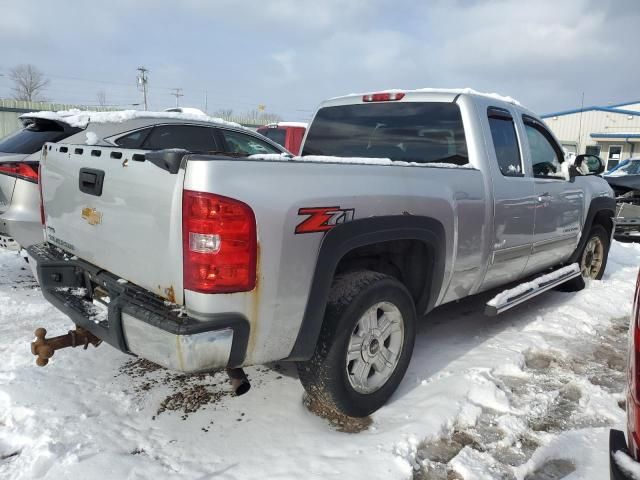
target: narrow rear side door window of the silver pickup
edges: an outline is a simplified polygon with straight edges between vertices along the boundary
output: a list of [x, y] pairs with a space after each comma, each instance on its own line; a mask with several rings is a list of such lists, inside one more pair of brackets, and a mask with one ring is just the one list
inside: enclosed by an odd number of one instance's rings
[[522, 177], [522, 158], [513, 117], [507, 110], [490, 107], [489, 128], [500, 172], [505, 177]]

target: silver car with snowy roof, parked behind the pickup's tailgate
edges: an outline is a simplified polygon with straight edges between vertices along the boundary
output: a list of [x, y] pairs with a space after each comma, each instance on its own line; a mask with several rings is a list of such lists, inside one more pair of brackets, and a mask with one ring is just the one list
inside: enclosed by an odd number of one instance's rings
[[[180, 112], [35, 112], [25, 128], [0, 141], [0, 247], [17, 250], [42, 242], [38, 164], [45, 142], [111, 145], [234, 154], [285, 149], [236, 123], [195, 109]], [[2, 153], [4, 152], [4, 153]]]

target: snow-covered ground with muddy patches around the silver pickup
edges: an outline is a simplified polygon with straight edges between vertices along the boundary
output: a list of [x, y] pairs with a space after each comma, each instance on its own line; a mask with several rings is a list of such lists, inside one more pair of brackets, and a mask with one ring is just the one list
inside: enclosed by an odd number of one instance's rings
[[496, 292], [422, 323], [391, 402], [360, 433], [309, 413], [295, 370], [184, 377], [107, 345], [46, 368], [33, 331], [69, 320], [23, 260], [0, 253], [0, 477], [220, 479], [608, 478], [608, 431], [624, 426], [626, 330], [640, 245], [614, 243], [604, 280], [548, 292], [497, 317]]

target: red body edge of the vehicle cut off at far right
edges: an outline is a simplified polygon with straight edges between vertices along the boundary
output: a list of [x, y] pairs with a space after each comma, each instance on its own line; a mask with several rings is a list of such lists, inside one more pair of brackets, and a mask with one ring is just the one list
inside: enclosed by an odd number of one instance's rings
[[629, 389], [627, 391], [627, 429], [629, 450], [637, 460], [640, 458], [640, 272], [636, 280], [633, 300], [629, 346]]

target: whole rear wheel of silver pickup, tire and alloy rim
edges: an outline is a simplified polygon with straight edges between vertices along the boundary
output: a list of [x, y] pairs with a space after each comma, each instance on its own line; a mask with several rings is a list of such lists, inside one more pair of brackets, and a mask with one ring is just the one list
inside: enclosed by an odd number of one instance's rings
[[374, 412], [402, 380], [415, 331], [413, 299], [398, 280], [371, 271], [337, 277], [313, 357], [298, 363], [310, 400], [352, 417]]

